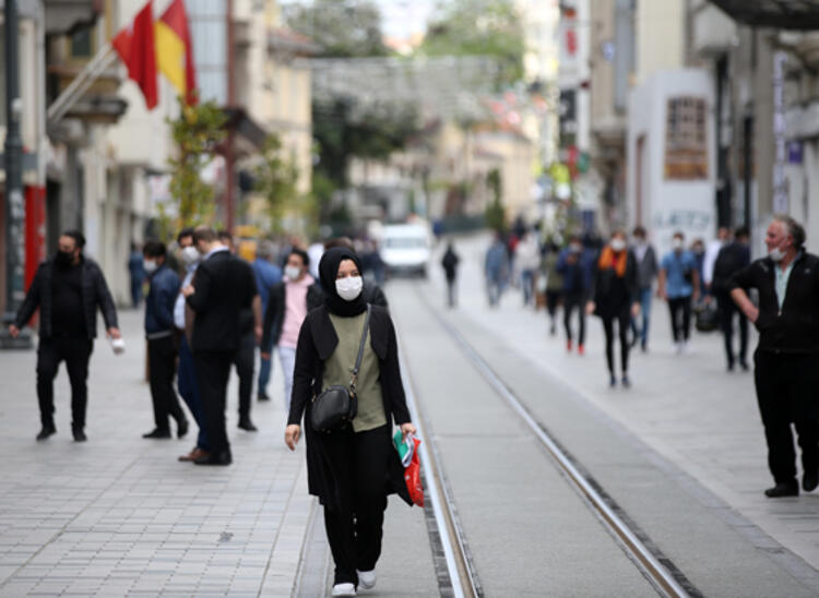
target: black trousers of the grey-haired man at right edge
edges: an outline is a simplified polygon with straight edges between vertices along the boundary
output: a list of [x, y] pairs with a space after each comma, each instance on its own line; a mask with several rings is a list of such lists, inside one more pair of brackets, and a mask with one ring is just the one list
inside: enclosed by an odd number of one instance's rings
[[819, 421], [816, 388], [819, 355], [753, 354], [757, 402], [768, 441], [768, 467], [776, 483], [793, 482], [796, 453], [791, 422], [796, 427], [805, 471], [819, 467]]

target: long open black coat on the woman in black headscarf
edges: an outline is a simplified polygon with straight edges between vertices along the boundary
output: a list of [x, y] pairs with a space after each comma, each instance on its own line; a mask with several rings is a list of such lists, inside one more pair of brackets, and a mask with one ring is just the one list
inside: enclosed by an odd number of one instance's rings
[[[339, 344], [339, 337], [324, 306], [307, 314], [298, 335], [296, 348], [296, 366], [293, 374], [293, 395], [290, 397], [290, 412], [288, 424], [300, 424], [304, 418], [305, 442], [307, 444], [307, 477], [310, 494], [319, 497], [322, 504], [332, 498], [332, 475], [321, 459], [318, 444], [322, 441], [322, 433], [316, 432], [310, 426], [310, 410], [312, 398], [321, 392], [324, 376], [324, 362], [333, 355]], [[370, 345], [378, 357], [383, 397], [384, 415], [388, 424], [392, 421], [400, 426], [411, 421], [406, 407], [404, 385], [401, 381], [399, 367], [399, 346], [395, 328], [387, 309], [372, 306], [370, 315]], [[397, 493], [407, 504], [413, 504], [404, 481], [404, 468], [401, 465], [397, 451], [393, 451], [389, 464], [385, 494]]]

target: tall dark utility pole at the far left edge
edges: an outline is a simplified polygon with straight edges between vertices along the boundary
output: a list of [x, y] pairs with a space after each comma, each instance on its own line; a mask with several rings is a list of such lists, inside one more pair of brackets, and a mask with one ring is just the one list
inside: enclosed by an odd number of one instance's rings
[[20, 137], [20, 118], [23, 100], [20, 98], [20, 67], [17, 57], [17, 2], [5, 0], [5, 312], [0, 331], [0, 348], [29, 348], [32, 337], [21, 332], [17, 338], [9, 334], [17, 308], [23, 302], [23, 141]]

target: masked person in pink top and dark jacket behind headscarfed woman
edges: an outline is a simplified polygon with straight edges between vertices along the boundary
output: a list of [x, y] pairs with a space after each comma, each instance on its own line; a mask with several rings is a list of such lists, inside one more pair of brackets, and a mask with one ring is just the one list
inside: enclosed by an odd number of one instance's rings
[[293, 368], [296, 362], [298, 331], [307, 313], [324, 301], [321, 286], [309, 273], [310, 258], [300, 249], [292, 249], [284, 267], [284, 278], [273, 285], [268, 309], [264, 310], [261, 351], [270, 359], [277, 347], [284, 375], [284, 405], [290, 407]]

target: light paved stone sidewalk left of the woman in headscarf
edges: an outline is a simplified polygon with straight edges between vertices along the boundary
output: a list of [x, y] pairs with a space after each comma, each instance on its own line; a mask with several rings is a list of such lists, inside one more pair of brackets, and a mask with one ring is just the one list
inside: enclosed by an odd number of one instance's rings
[[234, 465], [178, 463], [195, 424], [183, 440], [141, 438], [153, 428], [142, 314], [120, 320], [123, 356], [95, 344], [86, 443], [71, 440], [64, 368], [58, 433], [38, 443], [35, 352], [0, 355], [0, 596], [289, 596], [313, 500], [304, 446], [282, 441], [277, 361], [257, 433], [236, 428], [232, 379]]

